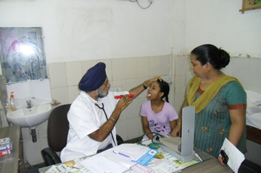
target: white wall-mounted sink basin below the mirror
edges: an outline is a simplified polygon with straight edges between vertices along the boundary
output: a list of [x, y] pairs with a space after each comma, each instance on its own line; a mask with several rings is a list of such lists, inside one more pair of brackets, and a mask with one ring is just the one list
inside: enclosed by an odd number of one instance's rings
[[32, 108], [16, 108], [16, 111], [8, 109], [6, 117], [8, 122], [21, 127], [33, 127], [45, 122], [52, 111], [51, 104], [39, 104]]

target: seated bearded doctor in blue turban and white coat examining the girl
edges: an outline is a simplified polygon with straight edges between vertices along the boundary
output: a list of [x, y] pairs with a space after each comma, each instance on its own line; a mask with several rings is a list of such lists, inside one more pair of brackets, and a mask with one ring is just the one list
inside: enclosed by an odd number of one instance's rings
[[[129, 92], [109, 92], [111, 84], [106, 76], [105, 67], [103, 62], [99, 62], [80, 80], [80, 95], [73, 101], [67, 114], [69, 120], [67, 146], [60, 154], [63, 162], [117, 146], [115, 124], [122, 111], [152, 82], [162, 80], [155, 77]], [[134, 97], [128, 97], [129, 93]], [[124, 96], [115, 99], [115, 95]]]

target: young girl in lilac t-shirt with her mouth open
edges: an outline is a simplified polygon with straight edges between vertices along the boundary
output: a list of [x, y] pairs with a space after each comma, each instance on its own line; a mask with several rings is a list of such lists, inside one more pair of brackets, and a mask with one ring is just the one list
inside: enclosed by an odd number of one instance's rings
[[[144, 132], [157, 132], [168, 135], [177, 124], [179, 117], [171, 104], [168, 103], [170, 87], [167, 82], [152, 82], [148, 89], [148, 102], [141, 106], [140, 115]], [[166, 97], [166, 102], [163, 98]], [[155, 134], [148, 134], [143, 139], [152, 139]]]

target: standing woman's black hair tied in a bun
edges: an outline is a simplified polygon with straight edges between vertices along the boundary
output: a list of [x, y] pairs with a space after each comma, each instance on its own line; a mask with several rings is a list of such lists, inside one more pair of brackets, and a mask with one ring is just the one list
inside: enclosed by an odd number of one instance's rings
[[205, 65], [209, 62], [214, 69], [220, 70], [229, 64], [230, 56], [227, 51], [214, 45], [201, 45], [191, 51], [191, 54], [196, 56], [196, 60]]

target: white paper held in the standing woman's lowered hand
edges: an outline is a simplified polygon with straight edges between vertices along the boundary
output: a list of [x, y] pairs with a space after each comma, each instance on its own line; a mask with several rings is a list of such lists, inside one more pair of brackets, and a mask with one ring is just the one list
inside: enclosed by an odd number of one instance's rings
[[238, 168], [242, 161], [245, 160], [244, 154], [242, 154], [242, 152], [240, 152], [240, 150], [238, 150], [238, 148], [236, 148], [227, 138], [225, 138], [221, 150], [224, 150], [229, 158], [227, 165], [229, 165], [231, 170], [235, 173], [238, 173]]

